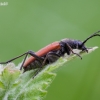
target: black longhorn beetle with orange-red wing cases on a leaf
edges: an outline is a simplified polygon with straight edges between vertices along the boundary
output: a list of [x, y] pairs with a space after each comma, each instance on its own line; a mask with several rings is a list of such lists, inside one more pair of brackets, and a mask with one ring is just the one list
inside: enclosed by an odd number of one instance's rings
[[[36, 69], [36, 68], [41, 69], [43, 66], [55, 62], [60, 57], [64, 56], [65, 53], [67, 53], [68, 55], [73, 53], [82, 59], [82, 57], [79, 54], [73, 52], [73, 49], [79, 49], [82, 51], [86, 51], [88, 53], [88, 49], [87, 49], [87, 47], [85, 47], [84, 44], [90, 38], [92, 38], [94, 36], [100, 36], [100, 34], [98, 34], [99, 32], [100, 31], [95, 32], [94, 34], [92, 34], [91, 36], [86, 38], [83, 42], [81, 42], [80, 40], [71, 40], [71, 39], [67, 39], [67, 38], [63, 39], [61, 41], [53, 42], [53, 43], [47, 45], [46, 47], [40, 49], [37, 52], [28, 51], [28, 52], [25, 52], [25, 53], [21, 54], [20, 56], [17, 56], [11, 60], [8, 60], [6, 62], [1, 62], [0, 64], [7, 64], [7, 63], [25, 55], [23, 63], [20, 67], [20, 70], [23, 68], [24, 72], [25, 72], [25, 71], [28, 71], [31, 69]], [[30, 57], [28, 59], [26, 59], [28, 54], [30, 55]]]

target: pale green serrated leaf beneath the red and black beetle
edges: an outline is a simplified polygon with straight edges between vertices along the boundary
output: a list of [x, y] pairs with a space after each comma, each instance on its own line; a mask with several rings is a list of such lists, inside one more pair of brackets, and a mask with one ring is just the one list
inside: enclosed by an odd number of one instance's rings
[[[89, 53], [96, 48], [88, 49]], [[86, 54], [82, 51], [76, 52], [80, 55]], [[42, 100], [47, 94], [47, 87], [56, 76], [54, 71], [74, 58], [76, 55], [73, 54], [60, 58], [55, 63], [45, 66], [34, 78], [38, 69], [22, 73], [12, 63], [5, 67], [0, 66], [0, 100]]]

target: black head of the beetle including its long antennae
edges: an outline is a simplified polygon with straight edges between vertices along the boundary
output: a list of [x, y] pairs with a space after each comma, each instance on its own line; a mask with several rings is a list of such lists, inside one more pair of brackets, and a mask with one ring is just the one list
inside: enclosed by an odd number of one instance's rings
[[85, 43], [92, 37], [94, 36], [100, 36], [100, 34], [97, 34], [99, 33], [100, 31], [98, 32], [95, 32], [94, 34], [92, 34], [91, 36], [89, 36], [87, 39], [85, 39], [83, 42], [78, 42], [78, 49], [82, 50], [82, 51], [86, 51], [88, 52], [87, 48], [85, 47]]

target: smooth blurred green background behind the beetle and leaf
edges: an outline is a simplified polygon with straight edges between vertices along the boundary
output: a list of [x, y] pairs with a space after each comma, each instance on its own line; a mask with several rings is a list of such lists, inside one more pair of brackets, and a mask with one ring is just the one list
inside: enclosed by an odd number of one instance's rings
[[[0, 61], [100, 30], [100, 0], [0, 0]], [[95, 37], [87, 46], [99, 46]], [[16, 64], [23, 58], [15, 61]], [[100, 100], [100, 48], [57, 71], [44, 100]]]

